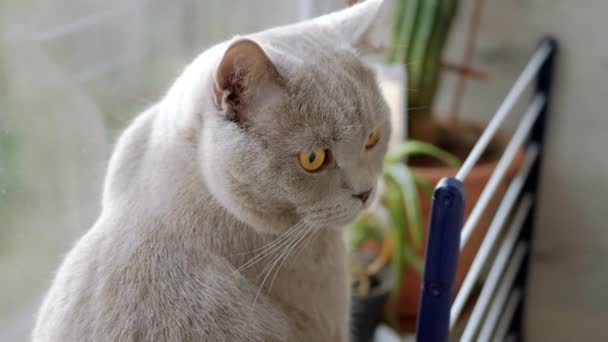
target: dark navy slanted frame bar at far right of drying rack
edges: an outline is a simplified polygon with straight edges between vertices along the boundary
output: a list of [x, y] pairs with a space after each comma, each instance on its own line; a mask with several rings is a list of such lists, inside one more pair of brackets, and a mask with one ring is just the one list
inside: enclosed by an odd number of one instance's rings
[[[532, 171], [530, 172], [530, 177], [528, 178], [528, 182], [525, 185], [525, 190], [528, 193], [533, 194], [535, 197], [535, 201], [532, 209], [530, 210], [530, 215], [526, 219], [524, 223], [524, 228], [522, 231], [521, 239], [523, 241], [528, 242], [529, 246], [533, 246], [533, 243], [530, 243], [532, 240], [534, 224], [536, 221], [536, 213], [538, 211], [536, 205], [538, 203], [538, 193], [539, 193], [539, 185], [540, 185], [540, 174], [542, 167], [542, 159], [543, 159], [543, 148], [545, 144], [545, 131], [547, 126], [547, 116], [549, 114], [549, 105], [551, 103], [551, 95], [554, 85], [554, 69], [555, 69], [555, 60], [558, 52], [558, 43], [553, 37], [545, 37], [541, 43], [541, 45], [550, 45], [551, 51], [547, 60], [542, 65], [538, 77], [536, 79], [536, 93], [542, 94], [546, 101], [541, 109], [540, 115], [536, 121], [536, 125], [532, 128], [532, 134], [530, 137], [530, 141], [539, 146], [540, 154], [538, 156], [538, 160], [536, 164], [532, 167]], [[520, 302], [520, 305], [517, 308], [515, 313], [515, 317], [510, 327], [510, 331], [516, 336], [518, 341], [525, 340], [524, 336], [524, 307], [526, 301], [526, 291], [527, 291], [527, 283], [528, 283], [528, 274], [530, 272], [530, 250], [526, 254], [524, 259], [524, 265], [515, 281], [515, 286], [521, 288], [523, 291], [523, 300]]]

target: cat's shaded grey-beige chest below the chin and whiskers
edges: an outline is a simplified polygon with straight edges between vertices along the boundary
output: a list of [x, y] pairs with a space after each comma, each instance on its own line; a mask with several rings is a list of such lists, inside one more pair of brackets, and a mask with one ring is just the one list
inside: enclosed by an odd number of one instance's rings
[[[337, 340], [350, 316], [346, 248], [339, 230], [319, 230], [296, 244], [281, 237], [260, 237], [235, 230], [223, 255], [249, 281], [256, 296], [268, 297], [299, 334], [294, 340]], [[277, 240], [278, 239], [278, 240]], [[293, 240], [296, 241], [296, 240]], [[313, 335], [309, 335], [313, 334]]]

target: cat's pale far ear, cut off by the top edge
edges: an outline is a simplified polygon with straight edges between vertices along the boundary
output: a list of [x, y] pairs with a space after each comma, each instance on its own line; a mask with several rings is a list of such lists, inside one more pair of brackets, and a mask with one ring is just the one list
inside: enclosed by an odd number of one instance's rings
[[362, 0], [339, 12], [317, 19], [325, 27], [337, 31], [343, 41], [360, 51], [373, 50], [382, 45], [388, 17], [389, 0]]

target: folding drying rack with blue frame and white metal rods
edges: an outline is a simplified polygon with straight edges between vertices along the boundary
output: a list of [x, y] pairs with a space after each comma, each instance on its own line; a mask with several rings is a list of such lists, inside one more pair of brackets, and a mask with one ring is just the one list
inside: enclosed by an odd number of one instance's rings
[[[540, 43], [456, 177], [442, 180], [435, 189], [416, 331], [418, 341], [438, 342], [448, 341], [448, 338], [467, 342], [503, 341], [508, 336], [522, 339], [522, 301], [525, 298], [556, 49], [557, 43], [552, 38]], [[534, 80], [535, 91], [528, 109], [473, 211], [463, 223], [464, 180]], [[467, 276], [453, 298], [459, 251], [467, 243], [483, 212], [488, 210], [491, 198], [520, 147], [526, 150], [523, 166], [510, 181]], [[495, 249], [497, 253], [493, 257]], [[488, 265], [489, 274], [483, 281], [479, 296], [474, 299], [473, 288]], [[461, 317], [469, 302], [474, 302], [471, 314]], [[464, 330], [460, 336], [453, 336], [454, 327], [461, 319], [464, 320]]]

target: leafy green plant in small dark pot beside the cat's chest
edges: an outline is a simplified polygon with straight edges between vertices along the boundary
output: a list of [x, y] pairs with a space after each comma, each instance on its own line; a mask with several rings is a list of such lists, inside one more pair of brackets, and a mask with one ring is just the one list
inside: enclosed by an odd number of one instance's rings
[[[404, 280], [409, 281], [405, 273], [410, 269], [418, 275], [422, 272], [421, 251], [426, 234], [420, 203], [422, 197], [430, 196], [433, 185], [418, 177], [403, 162], [413, 156], [435, 158], [453, 169], [460, 164], [456, 157], [420, 141], [402, 143], [385, 158], [382, 195], [349, 230], [350, 249], [355, 255], [367, 256], [363, 267], [361, 259], [353, 261], [353, 330], [361, 334], [357, 341], [370, 341], [368, 336], [373, 334], [380, 320], [383, 311], [380, 306], [385, 299], [389, 299], [384, 310], [386, 317], [394, 327], [400, 326], [397, 306], [403, 295]], [[390, 277], [386, 276], [386, 269], [390, 270]], [[371, 295], [365, 290], [374, 277], [382, 282], [383, 286], [379, 288], [383, 292]]]

